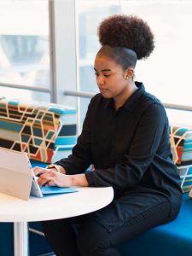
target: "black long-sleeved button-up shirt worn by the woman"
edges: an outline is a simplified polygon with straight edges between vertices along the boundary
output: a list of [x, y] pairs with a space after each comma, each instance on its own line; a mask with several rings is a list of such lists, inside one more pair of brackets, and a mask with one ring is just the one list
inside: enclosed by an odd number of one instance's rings
[[56, 164], [67, 174], [84, 172], [93, 164], [95, 171], [85, 172], [89, 185], [113, 186], [115, 195], [136, 191], [180, 200], [165, 108], [142, 83], [136, 85], [138, 89], [117, 111], [113, 99], [94, 96], [73, 154]]

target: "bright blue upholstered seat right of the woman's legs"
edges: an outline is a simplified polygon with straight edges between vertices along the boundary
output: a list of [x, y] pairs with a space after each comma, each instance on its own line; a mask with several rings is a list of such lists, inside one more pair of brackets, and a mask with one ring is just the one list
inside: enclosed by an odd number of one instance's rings
[[121, 255], [183, 256], [192, 255], [192, 199], [183, 194], [177, 218], [119, 245]]

